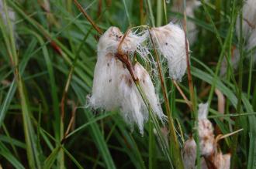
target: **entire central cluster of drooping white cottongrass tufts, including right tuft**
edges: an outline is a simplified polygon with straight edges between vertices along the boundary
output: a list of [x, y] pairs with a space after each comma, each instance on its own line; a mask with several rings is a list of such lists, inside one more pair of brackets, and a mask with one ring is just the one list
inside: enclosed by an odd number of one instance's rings
[[[185, 74], [186, 60], [185, 34], [180, 26], [169, 23], [142, 31], [129, 29], [124, 35], [118, 28], [110, 27], [99, 39], [92, 96], [89, 98], [89, 105], [95, 109], [120, 110], [123, 119], [131, 127], [137, 124], [141, 134], [149, 113], [135, 80], [140, 83], [156, 117], [162, 122], [166, 118], [149, 73], [140, 63], [131, 62], [135, 55], [144, 61], [152, 61], [151, 39], [167, 59], [171, 78], [181, 80]], [[131, 66], [127, 67], [126, 64]]]

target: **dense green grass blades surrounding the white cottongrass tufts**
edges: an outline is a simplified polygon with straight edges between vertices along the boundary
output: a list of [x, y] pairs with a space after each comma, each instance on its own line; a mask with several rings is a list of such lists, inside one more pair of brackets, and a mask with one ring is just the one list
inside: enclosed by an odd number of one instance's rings
[[[16, 12], [16, 21], [15, 32], [10, 31], [11, 21], [7, 25], [2, 19], [0, 22], [0, 164], [3, 168], [175, 167], [178, 152], [168, 160], [150, 123], [145, 125], [141, 136], [137, 127], [131, 130], [124, 123], [118, 110], [106, 112], [85, 106], [92, 90], [99, 33], [72, 0], [5, 2]], [[49, 10], [43, 7], [46, 2]], [[126, 32], [133, 26], [159, 26], [171, 19], [182, 25], [184, 17], [171, 11], [172, 1], [79, 2], [102, 30], [115, 25]], [[191, 71], [195, 106], [210, 103], [209, 118], [219, 133], [244, 129], [220, 141], [223, 153], [231, 153], [232, 167], [254, 168], [256, 73], [251, 62], [253, 51], [246, 50], [246, 39], [235, 33], [241, 5], [240, 0], [202, 1], [195, 10], [195, 19], [188, 18], [199, 31], [190, 46]], [[220, 64], [224, 57], [230, 58], [234, 46], [242, 56], [239, 68], [230, 67], [227, 76], [221, 77]], [[154, 83], [164, 101], [160, 80], [155, 78]], [[165, 78], [165, 83], [182, 147], [190, 134], [196, 135], [196, 110], [194, 113], [189, 110], [170, 79]], [[189, 97], [187, 75], [179, 86]], [[217, 111], [215, 88], [227, 99], [224, 117]], [[71, 121], [74, 123], [69, 127]], [[67, 128], [70, 130], [65, 136]], [[170, 148], [174, 148], [173, 141], [170, 140]]]

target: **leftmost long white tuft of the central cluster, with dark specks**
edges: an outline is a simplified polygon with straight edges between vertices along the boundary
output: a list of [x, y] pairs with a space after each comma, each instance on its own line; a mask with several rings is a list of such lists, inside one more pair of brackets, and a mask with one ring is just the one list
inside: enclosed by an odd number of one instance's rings
[[122, 73], [127, 71], [115, 57], [122, 33], [116, 27], [110, 27], [99, 39], [98, 59], [89, 105], [93, 108], [114, 110], [119, 107], [119, 93], [116, 92]]

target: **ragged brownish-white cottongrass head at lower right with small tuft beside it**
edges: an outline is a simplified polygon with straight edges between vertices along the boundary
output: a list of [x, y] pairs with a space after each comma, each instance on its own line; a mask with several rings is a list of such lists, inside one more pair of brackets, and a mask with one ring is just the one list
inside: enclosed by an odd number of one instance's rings
[[[201, 158], [201, 168], [230, 168], [230, 154], [223, 154], [218, 148], [217, 141], [213, 134], [213, 125], [207, 118], [208, 115], [208, 103], [199, 104], [199, 145]], [[195, 154], [192, 154], [195, 153]], [[196, 144], [195, 140], [191, 137], [184, 144], [182, 150], [182, 156], [184, 164], [188, 167], [185, 168], [196, 168], [195, 157], [196, 157]], [[192, 166], [194, 164], [194, 166]]]

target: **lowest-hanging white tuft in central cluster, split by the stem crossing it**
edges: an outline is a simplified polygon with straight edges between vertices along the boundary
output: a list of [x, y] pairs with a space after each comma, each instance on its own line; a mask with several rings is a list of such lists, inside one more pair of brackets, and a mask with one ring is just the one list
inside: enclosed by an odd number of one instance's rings
[[[134, 73], [137, 75], [142, 90], [144, 90], [154, 113], [161, 121], [164, 121], [166, 117], [161, 110], [158, 97], [154, 91], [154, 85], [146, 69], [144, 69], [140, 63], [136, 63], [134, 66]], [[121, 111], [124, 119], [131, 125], [136, 123], [140, 129], [140, 133], [143, 134], [144, 122], [148, 120], [147, 106], [145, 105], [144, 100], [142, 100], [140, 93], [137, 90], [137, 86], [133, 83], [133, 79], [129, 73], [123, 75], [119, 85], [119, 92], [122, 98]]]

